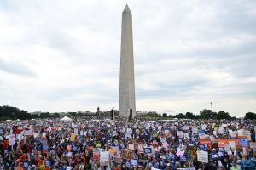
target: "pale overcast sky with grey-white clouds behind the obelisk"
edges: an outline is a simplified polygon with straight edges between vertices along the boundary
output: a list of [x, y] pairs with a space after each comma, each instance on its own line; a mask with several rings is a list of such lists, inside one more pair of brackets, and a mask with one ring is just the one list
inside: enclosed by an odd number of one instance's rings
[[121, 14], [137, 111], [256, 112], [256, 1], [0, 1], [0, 105], [118, 109]]

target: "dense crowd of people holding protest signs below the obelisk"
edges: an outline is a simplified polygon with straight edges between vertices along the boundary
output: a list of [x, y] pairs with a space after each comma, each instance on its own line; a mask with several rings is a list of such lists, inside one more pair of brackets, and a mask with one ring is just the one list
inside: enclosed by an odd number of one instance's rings
[[256, 122], [0, 122], [0, 169], [254, 170]]

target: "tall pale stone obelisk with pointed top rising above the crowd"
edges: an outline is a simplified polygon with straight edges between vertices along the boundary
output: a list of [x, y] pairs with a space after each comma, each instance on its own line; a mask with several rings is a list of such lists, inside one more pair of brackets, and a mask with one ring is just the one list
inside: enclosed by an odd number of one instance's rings
[[128, 5], [122, 14], [121, 57], [119, 77], [119, 116], [136, 116], [132, 18]]

